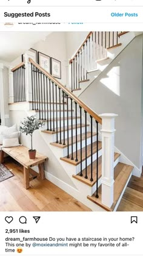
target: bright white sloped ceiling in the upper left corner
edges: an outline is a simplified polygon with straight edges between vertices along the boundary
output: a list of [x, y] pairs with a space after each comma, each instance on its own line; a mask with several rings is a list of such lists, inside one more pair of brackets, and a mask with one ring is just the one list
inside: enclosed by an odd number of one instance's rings
[[12, 62], [52, 32], [0, 32], [0, 60]]

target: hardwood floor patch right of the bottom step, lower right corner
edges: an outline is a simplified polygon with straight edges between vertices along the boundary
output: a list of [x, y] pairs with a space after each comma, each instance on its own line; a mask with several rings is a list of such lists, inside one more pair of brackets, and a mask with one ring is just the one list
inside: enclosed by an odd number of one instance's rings
[[141, 178], [131, 177], [117, 211], [143, 212], [143, 172]]

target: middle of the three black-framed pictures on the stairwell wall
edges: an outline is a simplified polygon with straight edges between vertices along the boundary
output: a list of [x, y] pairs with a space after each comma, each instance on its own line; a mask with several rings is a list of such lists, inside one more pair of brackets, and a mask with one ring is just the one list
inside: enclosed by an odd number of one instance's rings
[[51, 73], [50, 57], [42, 52], [38, 52], [38, 64], [48, 73]]

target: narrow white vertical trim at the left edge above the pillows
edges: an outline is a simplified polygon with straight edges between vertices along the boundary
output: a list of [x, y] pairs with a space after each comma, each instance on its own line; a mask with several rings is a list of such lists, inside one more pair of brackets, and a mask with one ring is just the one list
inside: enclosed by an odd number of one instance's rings
[[4, 116], [4, 81], [3, 81], [3, 69], [4, 65], [0, 63], [0, 112], [1, 112], [1, 125], [5, 125], [5, 116]]

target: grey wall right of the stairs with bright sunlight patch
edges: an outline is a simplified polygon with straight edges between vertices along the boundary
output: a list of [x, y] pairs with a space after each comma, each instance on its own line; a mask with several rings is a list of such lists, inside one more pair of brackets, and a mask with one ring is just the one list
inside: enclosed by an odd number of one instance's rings
[[115, 146], [139, 169], [142, 35], [136, 37], [79, 97], [96, 113], [116, 113]]

